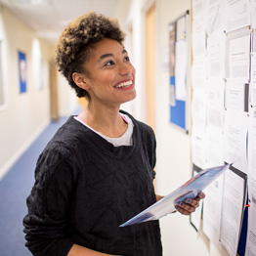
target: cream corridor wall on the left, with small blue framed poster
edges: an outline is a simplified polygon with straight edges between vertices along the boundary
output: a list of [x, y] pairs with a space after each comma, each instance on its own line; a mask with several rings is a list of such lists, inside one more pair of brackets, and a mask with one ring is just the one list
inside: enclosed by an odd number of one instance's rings
[[[55, 57], [55, 46], [38, 38], [30, 27], [1, 5], [0, 40], [6, 96], [6, 105], [0, 107], [1, 180], [50, 122], [49, 63]], [[23, 94], [20, 94], [18, 51], [25, 53], [27, 61], [27, 91]], [[68, 87], [65, 81], [60, 81], [60, 95], [66, 103], [60, 111], [64, 114], [69, 114], [76, 103]]]

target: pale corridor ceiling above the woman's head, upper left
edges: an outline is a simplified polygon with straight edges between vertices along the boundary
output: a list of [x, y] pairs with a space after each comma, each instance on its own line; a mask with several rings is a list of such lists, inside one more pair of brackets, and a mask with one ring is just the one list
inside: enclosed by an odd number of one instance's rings
[[0, 0], [0, 4], [55, 43], [68, 21], [89, 11], [114, 16], [118, 4], [128, 0]]

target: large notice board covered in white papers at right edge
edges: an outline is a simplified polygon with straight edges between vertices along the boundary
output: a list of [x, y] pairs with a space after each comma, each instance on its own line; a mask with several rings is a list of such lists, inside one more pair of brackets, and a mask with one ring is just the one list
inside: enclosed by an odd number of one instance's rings
[[192, 0], [191, 19], [192, 166], [233, 163], [205, 191], [202, 230], [256, 255], [256, 1]]

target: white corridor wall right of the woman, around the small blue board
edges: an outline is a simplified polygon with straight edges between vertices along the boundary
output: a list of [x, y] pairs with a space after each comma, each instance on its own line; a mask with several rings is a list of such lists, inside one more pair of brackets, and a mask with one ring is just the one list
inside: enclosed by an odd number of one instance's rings
[[[137, 118], [145, 118], [146, 90], [144, 64], [144, 19], [145, 7], [151, 1], [134, 0], [131, 5], [130, 17], [127, 19], [133, 25], [134, 64], [137, 68], [137, 103], [135, 103]], [[191, 9], [191, 0], [156, 0], [156, 192], [167, 194], [177, 189], [192, 177], [191, 171], [191, 138], [169, 122], [169, 73], [166, 64], [168, 50], [168, 24]], [[142, 58], [142, 60], [140, 59]], [[140, 59], [140, 60], [139, 60]], [[139, 79], [138, 79], [139, 75]], [[224, 248], [217, 248], [200, 230], [193, 230], [190, 219], [179, 213], [164, 217], [160, 221], [164, 256], [197, 256], [228, 255]]]

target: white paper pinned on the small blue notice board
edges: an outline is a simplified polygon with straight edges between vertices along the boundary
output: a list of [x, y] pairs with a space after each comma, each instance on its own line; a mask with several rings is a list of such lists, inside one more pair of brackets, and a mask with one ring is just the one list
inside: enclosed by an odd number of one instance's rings
[[180, 101], [187, 100], [188, 45], [185, 40], [175, 45], [175, 95]]

